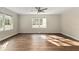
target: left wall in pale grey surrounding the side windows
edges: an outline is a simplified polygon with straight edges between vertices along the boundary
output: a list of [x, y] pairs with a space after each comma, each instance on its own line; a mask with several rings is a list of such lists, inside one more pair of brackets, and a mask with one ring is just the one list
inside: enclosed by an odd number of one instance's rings
[[13, 16], [13, 20], [14, 20], [14, 29], [13, 30], [0, 32], [0, 40], [3, 40], [5, 38], [8, 38], [8, 37], [18, 33], [18, 15], [13, 13], [12, 11], [10, 11], [6, 8], [2, 8], [2, 7], [0, 7], [0, 13], [11, 15], [11, 16]]

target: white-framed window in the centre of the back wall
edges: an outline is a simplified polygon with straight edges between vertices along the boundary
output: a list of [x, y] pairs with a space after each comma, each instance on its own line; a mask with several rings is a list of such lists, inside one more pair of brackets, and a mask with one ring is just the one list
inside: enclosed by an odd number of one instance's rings
[[46, 18], [33, 18], [32, 28], [46, 28]]

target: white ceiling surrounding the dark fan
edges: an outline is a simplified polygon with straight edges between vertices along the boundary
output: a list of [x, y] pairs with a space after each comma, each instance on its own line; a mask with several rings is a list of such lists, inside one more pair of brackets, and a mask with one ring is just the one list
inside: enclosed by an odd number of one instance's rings
[[[17, 14], [37, 14], [35, 7], [6, 7], [7, 9]], [[70, 9], [69, 7], [46, 7], [45, 12], [40, 14], [61, 14], [62, 12]]]

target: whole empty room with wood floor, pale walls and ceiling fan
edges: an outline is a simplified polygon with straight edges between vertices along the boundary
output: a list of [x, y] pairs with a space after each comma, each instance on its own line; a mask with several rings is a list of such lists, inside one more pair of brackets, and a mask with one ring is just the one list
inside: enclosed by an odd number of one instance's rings
[[79, 7], [0, 7], [0, 51], [79, 51]]

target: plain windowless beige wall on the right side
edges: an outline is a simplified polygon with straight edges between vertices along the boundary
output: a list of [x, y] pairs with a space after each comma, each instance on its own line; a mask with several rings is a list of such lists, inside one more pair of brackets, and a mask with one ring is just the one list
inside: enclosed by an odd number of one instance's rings
[[61, 32], [79, 39], [79, 8], [72, 8], [62, 14]]

